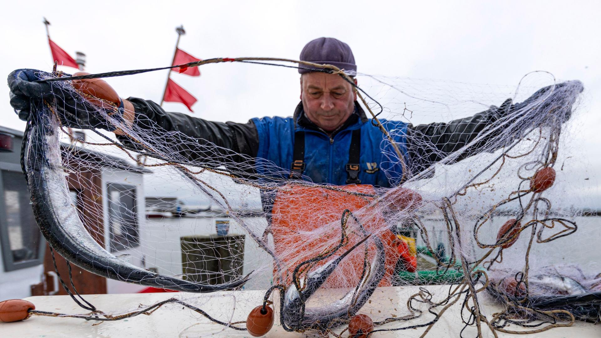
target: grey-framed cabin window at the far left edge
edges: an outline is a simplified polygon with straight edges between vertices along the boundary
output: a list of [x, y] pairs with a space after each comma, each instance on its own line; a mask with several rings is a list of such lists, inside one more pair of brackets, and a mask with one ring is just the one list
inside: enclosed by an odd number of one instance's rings
[[35, 223], [25, 178], [0, 170], [0, 238], [5, 271], [41, 264], [40, 229]]

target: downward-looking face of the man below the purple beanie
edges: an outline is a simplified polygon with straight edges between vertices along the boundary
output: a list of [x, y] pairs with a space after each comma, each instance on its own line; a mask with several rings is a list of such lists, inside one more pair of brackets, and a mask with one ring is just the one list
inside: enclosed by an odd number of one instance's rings
[[313, 72], [301, 76], [305, 114], [326, 132], [335, 131], [349, 118], [355, 110], [356, 99], [352, 85], [340, 75]]

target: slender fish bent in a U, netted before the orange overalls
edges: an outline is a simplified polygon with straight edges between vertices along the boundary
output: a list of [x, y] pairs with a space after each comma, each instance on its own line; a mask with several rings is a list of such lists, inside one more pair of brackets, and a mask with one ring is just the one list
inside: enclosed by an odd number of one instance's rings
[[296, 286], [291, 284], [284, 295], [284, 305], [282, 306], [282, 318], [284, 323], [293, 330], [320, 330], [325, 331], [328, 328], [337, 326], [340, 321], [349, 319], [364, 306], [365, 302], [371, 297], [380, 281], [384, 277], [385, 253], [384, 245], [377, 236], [371, 236], [376, 244], [376, 255], [371, 261], [371, 268], [359, 281], [355, 289], [350, 290], [340, 300], [335, 301], [328, 306], [306, 307], [303, 312], [305, 302], [319, 289], [326, 278], [334, 272], [338, 263], [344, 257], [354, 250], [363, 241], [355, 244], [345, 253], [330, 260], [323, 266], [311, 271], [306, 278], [305, 287], [302, 290], [302, 297]]

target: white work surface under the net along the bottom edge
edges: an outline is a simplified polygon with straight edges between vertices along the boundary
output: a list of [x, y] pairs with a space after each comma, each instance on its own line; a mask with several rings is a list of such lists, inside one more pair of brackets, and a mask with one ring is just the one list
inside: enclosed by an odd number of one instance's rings
[[[449, 286], [427, 286], [435, 295], [435, 300], [448, 292]], [[344, 290], [325, 290], [316, 295], [320, 304], [328, 304], [340, 297]], [[382, 320], [391, 316], [403, 316], [408, 314], [405, 307], [407, 298], [417, 293], [418, 287], [380, 287], [374, 292], [371, 301], [365, 304], [360, 313], [371, 316], [374, 321]], [[126, 312], [136, 310], [138, 306], [144, 304], [148, 306], [158, 301], [166, 300], [171, 297], [177, 297], [192, 303], [195, 306], [208, 312], [222, 321], [231, 319], [234, 321], [244, 321], [246, 316], [256, 306], [261, 304], [264, 296], [263, 290], [242, 290], [233, 292], [215, 292], [203, 295], [192, 293], [133, 293], [133, 294], [108, 294], [108, 295], [87, 295], [85, 298], [94, 304], [99, 310], [107, 313]], [[279, 298], [278, 293], [275, 293]], [[234, 310], [234, 298], [236, 308]], [[40, 296], [25, 298], [35, 304], [37, 310], [61, 313], [85, 313], [85, 310], [79, 308], [68, 296]], [[419, 303], [415, 303], [419, 304]], [[460, 330], [463, 328], [460, 317], [460, 306], [462, 301], [458, 301], [442, 315], [441, 319], [434, 325], [426, 337], [459, 337]], [[501, 306], [488, 297], [480, 297], [480, 304], [487, 318], [490, 315], [501, 310]], [[274, 304], [276, 310], [275, 324], [266, 337], [306, 337], [317, 335], [311, 333], [289, 333], [279, 326], [278, 304]], [[424, 309], [424, 307], [421, 307]], [[439, 312], [442, 307], [436, 308]], [[412, 321], [399, 321], [388, 324], [385, 327], [403, 327], [408, 325], [427, 323], [434, 318], [433, 315], [424, 311], [421, 318]], [[53, 318], [45, 316], [31, 316], [25, 321], [0, 323], [0, 336], [2, 337], [250, 337], [246, 331], [235, 331], [231, 328], [224, 328], [222, 325], [210, 322], [200, 314], [189, 309], [183, 309], [179, 304], [171, 304], [161, 307], [150, 316], [139, 315], [133, 318], [114, 322], [103, 322], [99, 325], [93, 325], [93, 321], [84, 321], [75, 318]], [[385, 328], [377, 327], [377, 328]], [[340, 327], [340, 332], [344, 327]], [[508, 330], [523, 330], [516, 325], [510, 325]], [[400, 331], [383, 331], [371, 334], [370, 337], [419, 337], [425, 328], [415, 328]], [[523, 335], [506, 334], [497, 332], [498, 337], [523, 337]], [[344, 333], [343, 337], [347, 337]], [[474, 328], [468, 328], [464, 331], [464, 337], [476, 336]], [[483, 325], [483, 336], [493, 337], [486, 325]], [[332, 337], [332, 336], [331, 336]], [[528, 337], [561, 338], [561, 337], [601, 337], [601, 325], [593, 325], [586, 322], [576, 321], [572, 327], [555, 327], [543, 333], [529, 335]]]

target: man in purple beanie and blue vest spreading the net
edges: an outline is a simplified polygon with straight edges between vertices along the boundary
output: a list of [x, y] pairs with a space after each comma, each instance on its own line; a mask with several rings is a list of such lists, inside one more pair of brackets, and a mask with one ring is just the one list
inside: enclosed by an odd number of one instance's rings
[[[334, 65], [344, 70], [352, 82], [357, 84], [355, 58], [349, 45], [340, 40], [321, 37], [310, 41], [302, 49], [300, 58], [311, 63]], [[110, 130], [106, 121], [98, 115], [90, 114], [86, 109], [78, 109], [75, 97], [70, 97], [66, 91], [57, 93], [56, 90], [52, 91], [49, 84], [31, 82], [38, 79], [38, 72], [24, 69], [9, 75], [10, 102], [20, 118], [27, 118], [30, 102], [39, 102], [42, 96], [49, 96], [63, 102], [66, 110], [77, 117], [75, 120], [67, 117], [66, 121], [63, 121], [67, 126]], [[108, 89], [99, 91], [98, 95], [104, 95], [103, 99], [123, 106], [123, 118], [126, 123], [147, 129], [151, 133], [150, 140], [153, 140], [152, 133], [160, 129], [162, 133], [178, 132], [173, 139], [165, 134], [160, 134], [160, 138], [159, 134], [156, 134], [157, 138], [154, 139], [169, 144], [170, 150], [178, 152], [189, 161], [202, 161], [204, 164], [215, 166], [225, 164], [226, 167], [246, 170], [251, 176], [260, 174], [261, 177], [304, 179], [314, 183], [344, 185], [347, 189], [355, 189], [353, 186], [368, 186], [371, 187], [367, 189], [368, 192], [373, 192], [373, 187], [397, 186], [408, 177], [421, 173], [470, 143], [487, 125], [504, 117], [514, 107], [511, 99], [508, 99], [501, 106], [491, 106], [490, 109], [472, 117], [418, 126], [401, 121], [381, 120], [386, 131], [395, 131], [391, 133], [391, 137], [400, 150], [399, 158], [391, 143], [382, 142], [382, 132], [373, 126], [370, 117], [357, 102], [355, 88], [349, 81], [343, 76], [323, 72], [323, 69], [317, 67], [301, 65], [298, 72], [301, 73], [301, 102], [292, 116], [252, 118], [248, 123], [214, 122], [178, 112], [166, 112], [151, 100], [136, 97], [120, 99], [108, 85]], [[282, 111], [276, 112], [281, 113]], [[123, 143], [135, 146], [135, 143], [119, 129], [115, 134]], [[192, 141], [182, 141], [182, 135]], [[214, 144], [218, 148], [212, 148], [212, 152], [209, 152], [204, 147], [207, 144]], [[475, 144], [456, 160], [460, 161], [481, 152], [484, 146], [484, 143]], [[254, 164], [248, 165], [249, 159], [254, 159]], [[248, 168], [240, 168], [236, 164], [247, 164]], [[282, 174], [282, 168], [289, 171]], [[313, 189], [312, 193], [307, 189], [303, 194], [315, 194], [318, 190]], [[291, 226], [290, 221], [281, 217], [286, 212], [292, 212], [285, 210], [286, 205], [291, 205], [288, 203], [290, 199], [290, 196], [278, 194], [263, 195], [267, 212], [275, 208], [279, 216], [271, 220], [270, 229], [276, 243], [276, 251], [278, 241], [286, 243], [282, 244], [285, 248], [294, 245], [294, 242], [287, 238], [286, 230]], [[323, 207], [331, 207], [331, 201], [327, 198], [323, 200]], [[364, 205], [359, 200], [352, 201], [347, 198], [346, 201], [347, 204], [355, 203], [355, 207]], [[311, 203], [316, 202], [312, 200]], [[297, 206], [294, 212], [308, 212], [302, 209], [310, 210]], [[335, 216], [338, 218], [343, 212], [331, 211], [331, 214], [338, 215]], [[335, 218], [329, 221], [335, 221]], [[313, 226], [301, 225], [303, 230], [312, 230]], [[395, 262], [400, 262], [398, 257], [401, 257], [404, 269], [415, 271], [415, 253], [409, 252], [410, 243], [398, 242], [394, 236], [384, 241], [389, 250], [394, 245], [397, 245], [395, 250], [398, 250], [398, 253], [388, 255], [388, 268], [391, 264], [394, 267]], [[389, 284], [389, 280], [383, 284]]]

